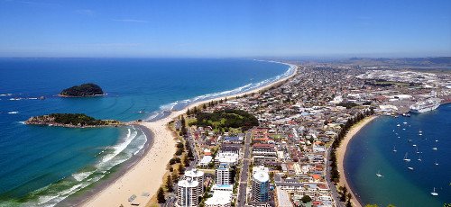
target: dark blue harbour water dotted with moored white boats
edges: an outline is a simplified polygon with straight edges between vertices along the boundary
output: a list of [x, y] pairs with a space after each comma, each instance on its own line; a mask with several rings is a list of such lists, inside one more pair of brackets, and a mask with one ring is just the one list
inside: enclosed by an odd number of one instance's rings
[[[403, 160], [406, 153], [410, 162]], [[451, 104], [411, 117], [382, 116], [351, 139], [345, 154], [346, 179], [364, 204], [443, 206], [451, 203], [449, 158]], [[434, 188], [438, 196], [430, 194]]]

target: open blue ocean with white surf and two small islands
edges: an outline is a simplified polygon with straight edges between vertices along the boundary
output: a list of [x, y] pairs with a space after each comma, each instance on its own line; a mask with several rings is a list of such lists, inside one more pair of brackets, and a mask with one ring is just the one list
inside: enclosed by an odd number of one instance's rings
[[[250, 59], [0, 58], [0, 206], [53, 206], [79, 196], [143, 152], [152, 139], [132, 126], [23, 124], [31, 116], [82, 112], [98, 119], [154, 120], [291, 72], [287, 65]], [[106, 95], [57, 96], [82, 83], [96, 83]]]

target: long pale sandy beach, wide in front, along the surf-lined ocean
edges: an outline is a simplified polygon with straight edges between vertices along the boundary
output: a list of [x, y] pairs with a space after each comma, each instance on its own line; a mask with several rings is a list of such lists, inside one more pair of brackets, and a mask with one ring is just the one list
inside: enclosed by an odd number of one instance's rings
[[[291, 67], [293, 65], [290, 65]], [[298, 74], [298, 67], [295, 67], [295, 71], [287, 77], [273, 82], [270, 85], [264, 85], [261, 88], [256, 88], [252, 91], [247, 91], [241, 94], [233, 94], [227, 97], [227, 99], [233, 99], [236, 96], [244, 94], [258, 93], [262, 90], [266, 90], [274, 85], [278, 85], [283, 81], [286, 81], [292, 76]], [[224, 99], [225, 97], [218, 97], [215, 99], [205, 100], [198, 103], [192, 103], [185, 107], [183, 110], [170, 112], [170, 115], [152, 122], [142, 122], [143, 127], [148, 128], [153, 133], [153, 145], [143, 155], [143, 158], [139, 160], [134, 166], [127, 170], [124, 175], [115, 179], [111, 184], [107, 184], [106, 188], [96, 193], [93, 197], [89, 198], [87, 202], [83, 203], [83, 206], [132, 206], [131, 202], [128, 202], [130, 196], [135, 194], [137, 197], [136, 202], [140, 203], [140, 206], [144, 206], [150, 201], [152, 195], [157, 193], [158, 188], [162, 184], [162, 177], [166, 173], [166, 165], [171, 157], [173, 157], [176, 148], [176, 140], [173, 137], [172, 132], [168, 128], [167, 124], [179, 115], [186, 112], [187, 108], [193, 108], [210, 101], [216, 101]], [[143, 193], [149, 194], [149, 196], [143, 196]]]

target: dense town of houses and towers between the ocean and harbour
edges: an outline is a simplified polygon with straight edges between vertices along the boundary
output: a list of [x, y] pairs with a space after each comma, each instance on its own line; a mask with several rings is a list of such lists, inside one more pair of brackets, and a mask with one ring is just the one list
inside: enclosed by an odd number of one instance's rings
[[412, 104], [449, 103], [450, 94], [446, 73], [300, 65], [280, 85], [199, 105], [171, 122], [179, 149], [158, 202], [351, 206], [352, 195], [338, 185], [335, 158], [350, 121], [409, 116]]

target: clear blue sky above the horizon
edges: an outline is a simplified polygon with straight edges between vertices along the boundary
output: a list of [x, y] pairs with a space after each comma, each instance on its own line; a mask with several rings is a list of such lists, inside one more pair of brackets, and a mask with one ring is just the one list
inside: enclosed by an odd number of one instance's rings
[[451, 1], [0, 0], [0, 57], [451, 56]]

